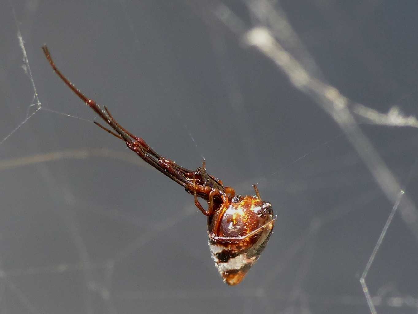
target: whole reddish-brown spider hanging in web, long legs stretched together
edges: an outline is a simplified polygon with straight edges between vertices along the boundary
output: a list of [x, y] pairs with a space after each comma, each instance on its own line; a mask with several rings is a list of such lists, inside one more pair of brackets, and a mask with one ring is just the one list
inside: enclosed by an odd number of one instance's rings
[[[133, 135], [117, 123], [106, 106], [102, 109], [76, 89], [57, 69], [46, 45], [42, 50], [55, 73], [113, 131], [94, 121], [96, 125], [123, 140], [131, 151], [194, 196], [194, 204], [208, 217], [209, 249], [219, 273], [229, 285], [240, 283], [263, 252], [275, 222], [271, 204], [262, 201], [257, 186], [253, 185], [255, 196], [235, 195], [232, 187], [224, 186], [221, 180], [206, 172], [205, 161], [192, 171], [160, 156], [143, 138]], [[198, 197], [208, 203], [208, 209], [203, 208]]]

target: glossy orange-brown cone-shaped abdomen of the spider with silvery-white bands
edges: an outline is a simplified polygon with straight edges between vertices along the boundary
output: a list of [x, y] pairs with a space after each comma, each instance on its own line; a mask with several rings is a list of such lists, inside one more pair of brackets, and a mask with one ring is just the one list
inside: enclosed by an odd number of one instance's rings
[[235, 196], [208, 219], [209, 249], [229, 285], [244, 279], [263, 252], [274, 217], [271, 204], [252, 196]]

